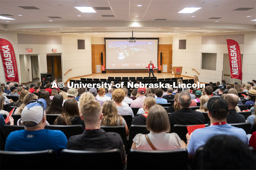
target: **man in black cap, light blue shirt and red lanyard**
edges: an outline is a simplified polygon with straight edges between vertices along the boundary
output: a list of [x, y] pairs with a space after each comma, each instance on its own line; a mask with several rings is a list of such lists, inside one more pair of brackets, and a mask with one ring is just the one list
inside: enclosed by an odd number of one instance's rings
[[228, 103], [222, 97], [213, 96], [205, 103], [208, 109], [210, 118], [210, 126], [196, 129], [190, 135], [187, 133], [187, 150], [189, 158], [194, 156], [198, 147], [205, 145], [211, 137], [215, 135], [233, 135], [238, 137], [246, 145], [248, 139], [245, 131], [242, 128], [236, 128], [227, 124], [226, 118], [228, 115]]

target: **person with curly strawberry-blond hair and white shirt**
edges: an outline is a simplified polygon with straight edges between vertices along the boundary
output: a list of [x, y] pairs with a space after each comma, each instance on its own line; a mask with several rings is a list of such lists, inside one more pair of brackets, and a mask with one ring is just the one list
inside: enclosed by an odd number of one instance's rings
[[118, 114], [119, 115], [129, 114], [132, 116], [132, 118], [134, 118], [133, 110], [129, 106], [122, 105], [122, 101], [123, 101], [124, 97], [125, 97], [125, 92], [120, 88], [116, 89], [112, 93], [112, 99], [115, 102], [115, 105], [118, 110]]

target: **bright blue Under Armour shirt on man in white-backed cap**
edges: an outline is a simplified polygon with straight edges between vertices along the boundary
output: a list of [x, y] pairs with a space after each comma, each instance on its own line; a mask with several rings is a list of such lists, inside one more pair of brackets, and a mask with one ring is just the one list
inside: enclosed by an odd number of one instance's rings
[[39, 151], [52, 149], [56, 154], [67, 148], [67, 137], [60, 130], [17, 130], [9, 134], [5, 143], [7, 151]]

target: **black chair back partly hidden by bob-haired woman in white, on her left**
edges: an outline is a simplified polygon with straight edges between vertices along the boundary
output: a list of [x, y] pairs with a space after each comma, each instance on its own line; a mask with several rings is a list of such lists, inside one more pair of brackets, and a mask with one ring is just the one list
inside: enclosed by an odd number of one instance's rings
[[129, 148], [133, 145], [133, 138], [138, 134], [148, 134], [149, 131], [145, 125], [131, 125], [129, 131]]

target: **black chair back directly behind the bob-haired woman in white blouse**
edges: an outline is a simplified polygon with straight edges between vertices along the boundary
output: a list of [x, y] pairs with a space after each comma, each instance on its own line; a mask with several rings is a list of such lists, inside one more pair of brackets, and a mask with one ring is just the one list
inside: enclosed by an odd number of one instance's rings
[[188, 152], [185, 148], [176, 150], [131, 149], [127, 158], [127, 169], [188, 169]]

